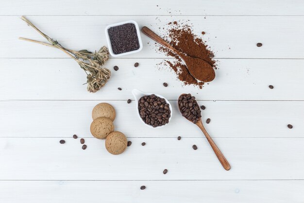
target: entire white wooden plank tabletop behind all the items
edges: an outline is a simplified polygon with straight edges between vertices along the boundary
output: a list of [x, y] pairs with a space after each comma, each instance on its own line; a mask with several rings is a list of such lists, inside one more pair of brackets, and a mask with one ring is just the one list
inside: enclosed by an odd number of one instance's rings
[[[182, 87], [168, 68], [158, 69], [166, 56], [142, 36], [144, 49], [111, 58], [106, 67], [119, 70], [100, 92], [88, 93], [72, 59], [17, 39], [44, 40], [21, 15], [75, 50], [105, 45], [110, 23], [134, 19], [157, 30], [189, 19], [195, 33], [206, 32], [219, 61], [217, 77], [202, 90]], [[304, 203], [303, 36], [302, 0], [2, 1], [0, 203]], [[168, 126], [141, 124], [135, 102], [126, 103], [133, 88], [171, 100]], [[179, 115], [176, 99], [184, 92], [206, 106], [206, 129], [230, 171]], [[90, 113], [100, 102], [115, 107], [116, 129], [133, 143], [119, 156], [90, 135]], [[85, 138], [86, 150], [73, 134]]]

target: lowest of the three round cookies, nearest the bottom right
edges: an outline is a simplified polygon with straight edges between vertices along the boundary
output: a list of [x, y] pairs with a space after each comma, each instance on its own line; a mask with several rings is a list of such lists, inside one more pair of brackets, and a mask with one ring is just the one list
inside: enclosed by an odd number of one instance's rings
[[111, 154], [118, 155], [124, 152], [127, 148], [126, 136], [118, 131], [111, 132], [105, 139], [105, 148]]

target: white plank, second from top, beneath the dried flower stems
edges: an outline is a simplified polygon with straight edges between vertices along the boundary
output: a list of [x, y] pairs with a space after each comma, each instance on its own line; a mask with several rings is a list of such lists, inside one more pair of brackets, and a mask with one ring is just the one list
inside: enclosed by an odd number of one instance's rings
[[[106, 45], [107, 24], [134, 19], [139, 26], [149, 26], [159, 35], [168, 22], [192, 23], [194, 33], [215, 52], [216, 58], [304, 58], [304, 16], [30, 16], [33, 23], [67, 48], [97, 50]], [[190, 21], [187, 21], [190, 20]], [[0, 17], [0, 57], [67, 57], [60, 50], [21, 41], [18, 37], [44, 40], [19, 16]], [[297, 25], [297, 26], [295, 26]], [[160, 28], [160, 29], [158, 29]], [[144, 48], [126, 57], [166, 57], [155, 51], [154, 41], [142, 35]], [[150, 43], [149, 45], [147, 43]], [[263, 43], [257, 47], [256, 43]]]

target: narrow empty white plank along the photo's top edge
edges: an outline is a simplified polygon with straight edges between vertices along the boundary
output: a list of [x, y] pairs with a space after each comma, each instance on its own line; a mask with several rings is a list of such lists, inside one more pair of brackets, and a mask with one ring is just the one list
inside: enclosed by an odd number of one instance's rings
[[303, 9], [301, 0], [13, 0], [3, 2], [0, 15], [303, 15]]

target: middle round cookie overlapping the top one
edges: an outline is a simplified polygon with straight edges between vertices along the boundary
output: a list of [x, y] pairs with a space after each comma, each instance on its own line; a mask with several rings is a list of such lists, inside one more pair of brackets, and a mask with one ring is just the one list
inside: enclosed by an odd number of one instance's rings
[[105, 139], [114, 130], [113, 121], [110, 118], [96, 118], [90, 127], [90, 131], [97, 139]]

